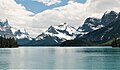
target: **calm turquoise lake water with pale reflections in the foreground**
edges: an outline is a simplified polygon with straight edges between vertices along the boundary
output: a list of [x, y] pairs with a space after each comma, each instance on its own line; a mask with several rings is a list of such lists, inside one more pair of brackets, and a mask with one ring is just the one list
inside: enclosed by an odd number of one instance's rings
[[0, 69], [120, 70], [120, 48], [0, 49]]

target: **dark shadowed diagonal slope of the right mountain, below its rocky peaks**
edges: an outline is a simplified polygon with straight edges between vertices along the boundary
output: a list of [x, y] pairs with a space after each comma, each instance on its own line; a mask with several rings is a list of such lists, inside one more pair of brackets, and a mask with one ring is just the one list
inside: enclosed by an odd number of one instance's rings
[[[114, 37], [117, 37], [120, 35], [120, 14], [118, 14], [118, 17], [110, 22], [107, 26], [95, 30], [93, 32], [90, 32], [86, 35], [84, 35], [81, 38], [87, 39], [87, 41], [109, 41], [113, 39]], [[80, 38], [80, 39], [81, 39]], [[78, 37], [76, 37], [77, 40], [80, 40]]]

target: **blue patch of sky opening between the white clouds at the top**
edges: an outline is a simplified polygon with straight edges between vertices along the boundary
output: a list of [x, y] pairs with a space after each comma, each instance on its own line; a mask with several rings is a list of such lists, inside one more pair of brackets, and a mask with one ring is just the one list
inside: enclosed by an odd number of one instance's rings
[[[46, 1], [46, 2], [45, 2]], [[22, 4], [28, 11], [35, 14], [43, 12], [47, 9], [53, 9], [60, 6], [65, 6], [68, 4], [69, 0], [51, 0], [55, 1], [53, 3], [50, 0], [16, 0], [17, 4]], [[76, 0], [78, 3], [85, 3], [86, 0]]]

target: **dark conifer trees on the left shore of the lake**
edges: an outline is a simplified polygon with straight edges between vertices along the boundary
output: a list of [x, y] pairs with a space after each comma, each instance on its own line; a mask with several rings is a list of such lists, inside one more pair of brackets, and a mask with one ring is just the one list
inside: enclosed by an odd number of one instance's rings
[[16, 48], [18, 44], [14, 38], [5, 38], [0, 36], [0, 48]]

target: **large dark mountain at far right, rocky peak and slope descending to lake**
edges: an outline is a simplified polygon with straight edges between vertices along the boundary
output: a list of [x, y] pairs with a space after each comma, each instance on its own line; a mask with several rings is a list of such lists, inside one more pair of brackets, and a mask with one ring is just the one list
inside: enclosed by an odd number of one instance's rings
[[101, 18], [104, 27], [91, 31], [83, 36], [77, 35], [72, 41], [66, 41], [63, 44], [68, 45], [103, 45], [108, 41], [120, 36], [120, 13], [111, 11], [105, 13]]

